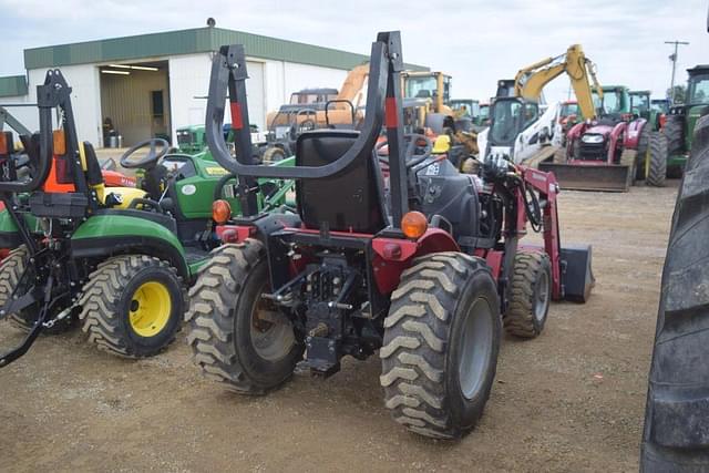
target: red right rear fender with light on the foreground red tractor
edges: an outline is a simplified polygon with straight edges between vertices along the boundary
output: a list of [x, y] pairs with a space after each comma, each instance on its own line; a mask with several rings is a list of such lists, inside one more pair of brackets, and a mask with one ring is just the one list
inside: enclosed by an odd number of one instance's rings
[[397, 289], [401, 274], [411, 261], [424, 255], [439, 251], [460, 251], [453, 237], [441, 228], [429, 228], [418, 240], [400, 238], [373, 238], [374, 279], [381, 294]]

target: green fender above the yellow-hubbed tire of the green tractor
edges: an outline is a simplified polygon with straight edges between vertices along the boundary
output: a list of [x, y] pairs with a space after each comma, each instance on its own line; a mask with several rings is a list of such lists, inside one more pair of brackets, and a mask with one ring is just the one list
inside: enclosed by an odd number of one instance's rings
[[183, 278], [189, 278], [185, 251], [165, 226], [130, 215], [106, 213], [83, 223], [71, 236], [73, 258], [109, 257], [135, 251], [166, 259]]

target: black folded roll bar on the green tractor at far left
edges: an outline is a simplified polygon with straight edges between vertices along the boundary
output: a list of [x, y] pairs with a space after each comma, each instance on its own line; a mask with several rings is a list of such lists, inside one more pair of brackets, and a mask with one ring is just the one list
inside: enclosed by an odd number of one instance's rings
[[[40, 113], [40, 155], [37, 172], [30, 181], [0, 181], [0, 193], [34, 192], [44, 184], [52, 165], [52, 109], [71, 113], [71, 88], [58, 69], [47, 71], [44, 84], [37, 86], [37, 106]], [[74, 140], [75, 136], [68, 136]]]

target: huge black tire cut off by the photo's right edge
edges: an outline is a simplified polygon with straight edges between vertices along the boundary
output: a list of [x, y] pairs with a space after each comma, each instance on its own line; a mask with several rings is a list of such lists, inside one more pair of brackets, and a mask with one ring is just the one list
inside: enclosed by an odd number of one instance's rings
[[709, 471], [709, 116], [677, 196], [650, 364], [640, 470]]

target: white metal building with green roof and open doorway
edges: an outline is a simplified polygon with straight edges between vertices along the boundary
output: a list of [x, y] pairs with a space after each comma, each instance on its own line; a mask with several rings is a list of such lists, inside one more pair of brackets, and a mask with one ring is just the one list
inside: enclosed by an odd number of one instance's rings
[[[222, 44], [248, 54], [250, 121], [307, 88], [339, 88], [347, 71], [368, 56], [220, 28], [198, 28], [34, 48], [24, 51], [27, 75], [0, 78], [0, 104], [33, 103], [48, 69], [59, 68], [73, 88], [80, 140], [103, 146], [109, 127], [130, 146], [177, 127], [204, 123], [210, 58]], [[10, 109], [30, 130], [37, 110]]]

